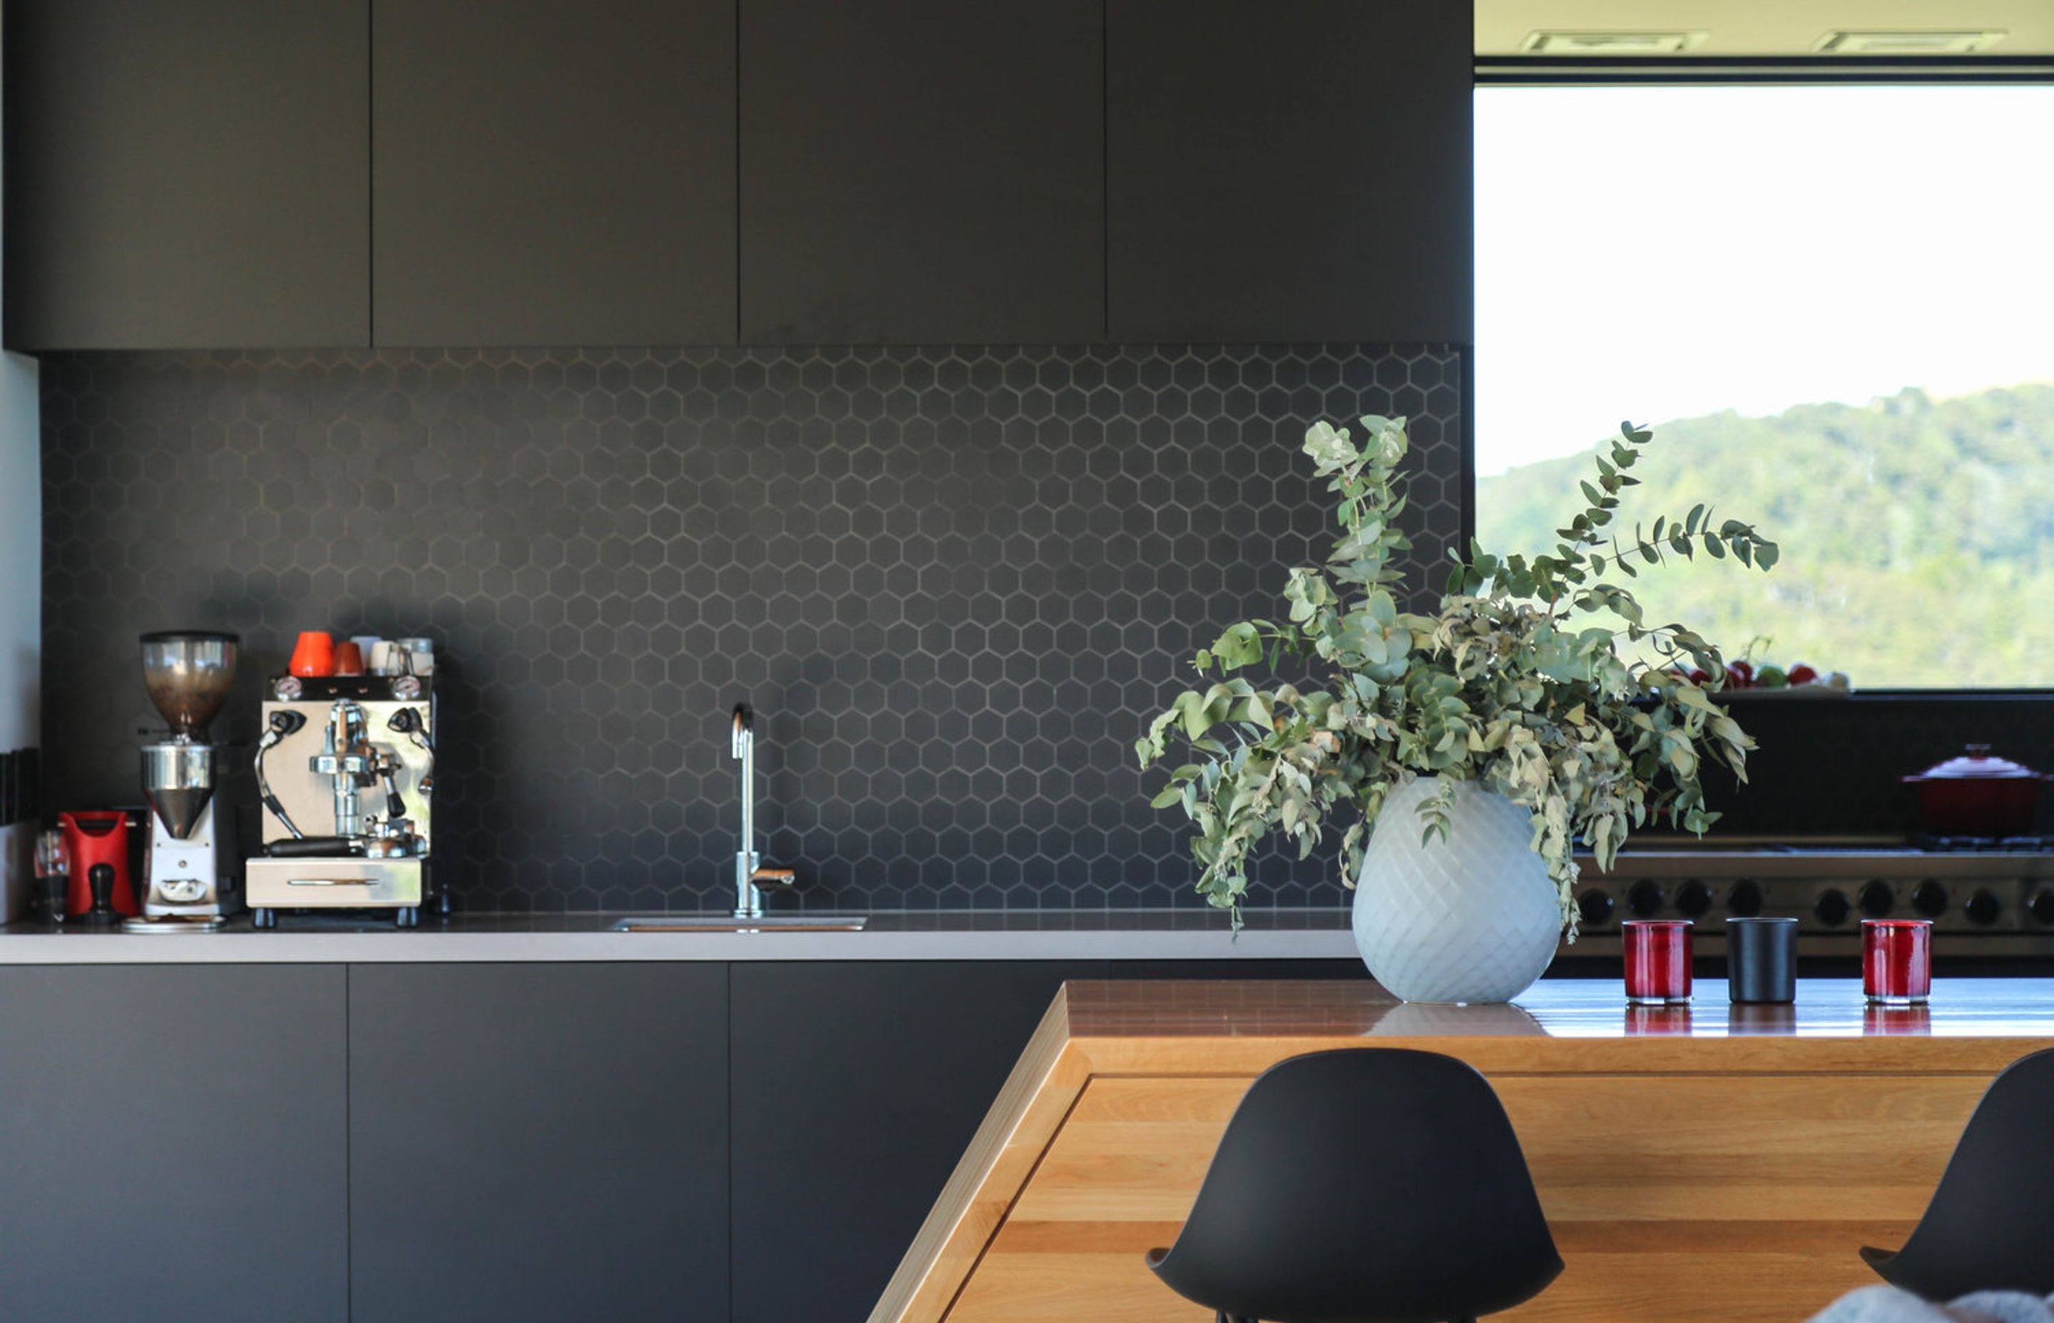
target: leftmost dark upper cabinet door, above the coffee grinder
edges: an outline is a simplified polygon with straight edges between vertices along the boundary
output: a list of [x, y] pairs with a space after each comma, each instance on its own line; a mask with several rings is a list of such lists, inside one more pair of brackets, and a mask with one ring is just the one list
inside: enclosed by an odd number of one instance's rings
[[370, 341], [370, 0], [10, 0], [6, 343]]

